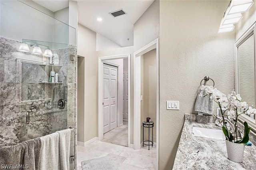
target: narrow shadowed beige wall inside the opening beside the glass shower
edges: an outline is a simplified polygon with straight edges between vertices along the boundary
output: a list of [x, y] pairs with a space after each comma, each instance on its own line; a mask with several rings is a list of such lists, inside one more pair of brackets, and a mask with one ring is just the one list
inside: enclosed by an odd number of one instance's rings
[[78, 119], [77, 119], [77, 140], [84, 142], [84, 134], [85, 134], [85, 123], [84, 123], [84, 57], [78, 57], [77, 61], [78, 65], [78, 79], [77, 79], [77, 114], [78, 114]]

